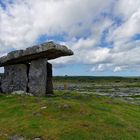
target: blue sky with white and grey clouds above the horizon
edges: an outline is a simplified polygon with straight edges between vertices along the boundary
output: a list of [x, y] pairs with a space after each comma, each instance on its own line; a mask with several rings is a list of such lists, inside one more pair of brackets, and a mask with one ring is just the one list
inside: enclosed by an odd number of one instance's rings
[[140, 76], [140, 0], [0, 0], [0, 56], [47, 41], [54, 75]]

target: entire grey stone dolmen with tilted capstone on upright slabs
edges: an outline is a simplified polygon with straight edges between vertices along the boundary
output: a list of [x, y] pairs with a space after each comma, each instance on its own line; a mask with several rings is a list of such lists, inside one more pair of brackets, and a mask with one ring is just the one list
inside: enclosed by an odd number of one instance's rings
[[1, 92], [25, 91], [36, 96], [53, 94], [52, 64], [48, 60], [70, 55], [73, 55], [70, 49], [54, 42], [8, 53], [0, 58], [0, 67], [4, 67], [0, 77]]

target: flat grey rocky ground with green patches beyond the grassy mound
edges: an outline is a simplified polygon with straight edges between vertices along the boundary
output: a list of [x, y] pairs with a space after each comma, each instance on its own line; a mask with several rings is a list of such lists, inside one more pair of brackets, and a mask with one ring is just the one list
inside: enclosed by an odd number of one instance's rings
[[[79, 82], [76, 77], [67, 79], [55, 79], [55, 90], [77, 91], [83, 94], [96, 94], [109, 96], [111, 98], [120, 98], [129, 103], [136, 103], [140, 105], [140, 79], [139, 78], [121, 78], [118, 79], [83, 79]], [[85, 79], [84, 79], [85, 78]]]

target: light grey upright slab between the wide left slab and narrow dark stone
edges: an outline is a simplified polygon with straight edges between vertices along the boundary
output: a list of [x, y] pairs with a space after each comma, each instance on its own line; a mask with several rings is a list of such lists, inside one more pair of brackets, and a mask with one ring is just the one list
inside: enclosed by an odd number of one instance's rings
[[36, 96], [46, 95], [47, 59], [31, 61], [29, 69], [29, 92]]

